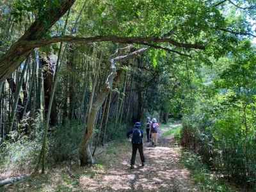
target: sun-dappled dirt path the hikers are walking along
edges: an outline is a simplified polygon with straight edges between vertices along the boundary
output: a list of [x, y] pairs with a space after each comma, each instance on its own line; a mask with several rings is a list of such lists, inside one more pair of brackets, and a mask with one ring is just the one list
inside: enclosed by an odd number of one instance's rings
[[163, 134], [179, 126], [179, 122], [162, 125], [157, 147], [144, 143], [144, 167], [140, 167], [137, 153], [135, 169], [130, 170], [130, 144], [109, 159], [111, 165], [102, 175], [80, 178], [81, 188], [88, 191], [197, 191], [189, 171], [179, 163], [181, 149], [175, 144], [173, 134]]

